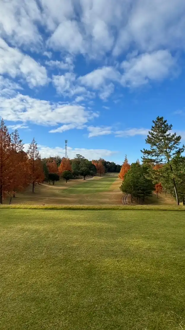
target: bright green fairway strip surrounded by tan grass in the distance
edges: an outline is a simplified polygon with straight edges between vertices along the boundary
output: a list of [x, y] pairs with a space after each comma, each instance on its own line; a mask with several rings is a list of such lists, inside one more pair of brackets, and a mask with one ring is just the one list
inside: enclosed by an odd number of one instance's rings
[[117, 178], [102, 178], [98, 180], [86, 180], [84, 182], [80, 182], [75, 186], [70, 186], [68, 189], [62, 191], [64, 194], [94, 194], [96, 192], [104, 192], [108, 190], [113, 182], [115, 182]]

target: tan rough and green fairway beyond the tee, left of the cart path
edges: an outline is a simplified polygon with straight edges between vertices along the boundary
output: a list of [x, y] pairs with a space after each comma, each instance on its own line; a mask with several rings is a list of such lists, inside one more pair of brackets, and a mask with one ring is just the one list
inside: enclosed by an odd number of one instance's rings
[[[35, 193], [31, 185], [12, 198], [12, 204], [32, 205], [122, 205], [121, 185], [117, 176], [92, 180], [60, 180], [55, 185], [37, 184]], [[4, 201], [9, 204], [10, 198]]]

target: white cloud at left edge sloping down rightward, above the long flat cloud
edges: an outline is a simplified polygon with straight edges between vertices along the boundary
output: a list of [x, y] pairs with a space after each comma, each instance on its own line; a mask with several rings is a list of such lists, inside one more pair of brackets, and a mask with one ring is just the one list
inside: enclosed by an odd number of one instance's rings
[[9, 47], [0, 38], [0, 74], [10, 77], [24, 78], [31, 88], [43, 86], [48, 82], [45, 67], [37, 63], [32, 57], [24, 55], [16, 48]]

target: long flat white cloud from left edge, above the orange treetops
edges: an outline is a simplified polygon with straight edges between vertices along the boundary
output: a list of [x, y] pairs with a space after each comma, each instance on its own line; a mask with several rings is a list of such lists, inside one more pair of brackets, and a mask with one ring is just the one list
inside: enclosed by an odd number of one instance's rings
[[0, 97], [0, 116], [14, 122], [48, 126], [73, 124], [74, 127], [80, 127], [98, 114], [87, 111], [81, 105], [50, 103], [17, 94], [12, 98]]

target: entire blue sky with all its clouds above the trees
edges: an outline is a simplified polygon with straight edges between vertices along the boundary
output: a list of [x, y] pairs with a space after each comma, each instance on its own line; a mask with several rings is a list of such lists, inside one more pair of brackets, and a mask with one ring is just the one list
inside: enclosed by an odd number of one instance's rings
[[185, 141], [184, 0], [2, 0], [0, 117], [42, 157], [141, 157], [156, 116]]

